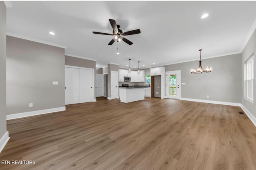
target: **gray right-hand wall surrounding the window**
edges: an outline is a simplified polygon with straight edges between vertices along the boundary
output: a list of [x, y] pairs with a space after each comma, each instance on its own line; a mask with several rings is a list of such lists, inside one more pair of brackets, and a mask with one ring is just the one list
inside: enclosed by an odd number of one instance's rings
[[[253, 82], [253, 98], [254, 103], [249, 102], [244, 98], [244, 62], [251, 56], [251, 54], [254, 54], [254, 82]], [[242, 97], [242, 104], [244, 107], [247, 108], [247, 110], [256, 118], [256, 30], [254, 30], [254, 33], [252, 34], [250, 40], [244, 47], [244, 50], [242, 51], [242, 90], [241, 90], [241, 97]]]

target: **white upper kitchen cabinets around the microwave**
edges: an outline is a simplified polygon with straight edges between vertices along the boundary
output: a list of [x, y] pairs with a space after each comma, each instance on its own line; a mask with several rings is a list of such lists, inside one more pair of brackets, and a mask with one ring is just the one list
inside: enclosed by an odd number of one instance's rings
[[119, 69], [119, 82], [124, 82], [124, 77], [131, 77], [131, 82], [145, 82], [145, 70], [141, 70], [140, 74], [138, 71], [131, 71], [128, 73], [128, 70]]

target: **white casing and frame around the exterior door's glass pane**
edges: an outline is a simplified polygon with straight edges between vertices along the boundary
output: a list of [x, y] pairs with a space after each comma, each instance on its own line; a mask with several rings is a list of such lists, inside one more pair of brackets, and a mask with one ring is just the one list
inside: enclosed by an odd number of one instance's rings
[[[166, 76], [166, 98], [173, 98], [173, 99], [180, 99], [180, 94], [181, 94], [181, 86], [180, 86], [180, 70], [176, 70], [176, 71], [169, 71], [169, 72], [165, 72], [165, 76]], [[175, 94], [170, 94], [170, 83], [169, 83], [169, 78], [170, 76], [176, 76], [176, 86], [173, 87], [176, 89], [176, 93]]]

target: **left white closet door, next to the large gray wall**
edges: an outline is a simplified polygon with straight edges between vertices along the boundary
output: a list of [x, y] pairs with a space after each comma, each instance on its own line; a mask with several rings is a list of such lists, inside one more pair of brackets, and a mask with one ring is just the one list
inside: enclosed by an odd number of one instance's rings
[[79, 103], [79, 69], [65, 67], [65, 104]]

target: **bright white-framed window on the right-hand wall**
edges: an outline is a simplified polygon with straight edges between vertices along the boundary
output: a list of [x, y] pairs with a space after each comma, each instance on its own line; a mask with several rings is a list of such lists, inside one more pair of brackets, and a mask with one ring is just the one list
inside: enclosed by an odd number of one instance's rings
[[254, 56], [246, 62], [246, 99], [253, 102], [253, 61]]

